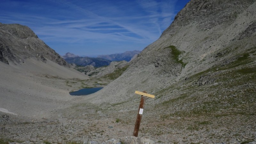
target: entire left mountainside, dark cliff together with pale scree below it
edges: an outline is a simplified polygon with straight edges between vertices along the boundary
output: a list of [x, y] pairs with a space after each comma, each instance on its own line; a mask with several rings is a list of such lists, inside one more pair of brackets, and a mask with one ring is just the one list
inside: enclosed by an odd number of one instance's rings
[[21, 117], [43, 116], [39, 111], [49, 112], [62, 105], [61, 100], [70, 99], [68, 80], [89, 79], [69, 68], [26, 26], [1, 24], [0, 42], [0, 111]]

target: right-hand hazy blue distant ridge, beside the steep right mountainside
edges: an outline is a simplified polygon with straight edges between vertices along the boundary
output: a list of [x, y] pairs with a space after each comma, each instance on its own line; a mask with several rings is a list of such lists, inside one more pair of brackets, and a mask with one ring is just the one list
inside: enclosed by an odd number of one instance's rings
[[102, 58], [105, 60], [110, 60], [110, 61], [130, 61], [132, 57], [136, 54], [139, 54], [140, 51], [127, 51], [124, 53], [116, 53], [116, 54], [110, 54], [110, 55], [99, 55], [98, 58]]

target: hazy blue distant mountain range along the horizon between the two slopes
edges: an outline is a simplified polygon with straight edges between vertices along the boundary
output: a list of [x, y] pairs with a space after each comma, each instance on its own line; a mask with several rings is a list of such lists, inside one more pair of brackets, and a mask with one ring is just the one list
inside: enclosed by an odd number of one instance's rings
[[65, 59], [69, 64], [76, 64], [83, 67], [88, 65], [92, 65], [94, 67], [102, 67], [108, 66], [111, 61], [130, 61], [134, 56], [137, 56], [139, 53], [140, 51], [135, 50], [118, 54], [100, 55], [97, 58], [91, 58], [79, 57], [75, 54], [68, 52], [64, 56], [62, 56], [62, 58]]

